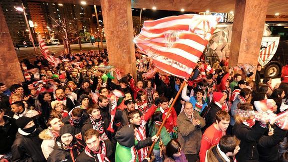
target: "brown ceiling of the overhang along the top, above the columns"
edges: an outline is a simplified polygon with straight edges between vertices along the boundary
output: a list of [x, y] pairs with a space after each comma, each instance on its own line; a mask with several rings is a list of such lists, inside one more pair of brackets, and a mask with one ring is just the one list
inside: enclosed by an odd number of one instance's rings
[[[35, 1], [35, 0], [34, 0]], [[80, 4], [82, 0], [36, 0], [42, 2]], [[101, 5], [100, 0], [84, 0], [87, 5]], [[115, 0], [125, 1], [125, 0]], [[146, 8], [157, 10], [180, 11], [184, 9], [189, 12], [229, 13], [235, 8], [235, 0], [131, 0], [131, 8]], [[288, 15], [288, 0], [269, 0], [267, 15]]]

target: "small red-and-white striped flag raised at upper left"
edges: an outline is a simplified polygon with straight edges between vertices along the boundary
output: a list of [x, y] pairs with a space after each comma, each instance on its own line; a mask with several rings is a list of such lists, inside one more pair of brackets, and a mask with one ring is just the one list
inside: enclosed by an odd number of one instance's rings
[[44, 40], [41, 38], [41, 36], [38, 36], [38, 41], [39, 41], [39, 47], [40, 47], [40, 51], [41, 54], [45, 57], [45, 59], [54, 67], [57, 67], [58, 64], [61, 63], [61, 60], [59, 58], [56, 58], [52, 55], [50, 55], [49, 50], [46, 46], [46, 43], [44, 42]]

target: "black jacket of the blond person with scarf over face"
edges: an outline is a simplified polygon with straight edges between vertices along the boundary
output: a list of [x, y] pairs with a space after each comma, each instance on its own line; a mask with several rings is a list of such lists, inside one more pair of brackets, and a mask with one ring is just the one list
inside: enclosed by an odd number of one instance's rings
[[237, 124], [232, 128], [233, 134], [241, 140], [240, 150], [235, 155], [238, 162], [258, 162], [259, 154], [257, 150], [257, 141], [263, 135], [267, 128], [263, 128], [259, 122], [250, 128], [244, 124]]

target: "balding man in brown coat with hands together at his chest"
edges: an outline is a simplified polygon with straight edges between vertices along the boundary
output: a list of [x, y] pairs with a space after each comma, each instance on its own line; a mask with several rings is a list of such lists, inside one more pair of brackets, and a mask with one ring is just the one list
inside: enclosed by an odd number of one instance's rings
[[188, 161], [197, 161], [201, 142], [201, 128], [205, 120], [193, 109], [192, 103], [184, 103], [184, 111], [177, 117], [178, 141]]

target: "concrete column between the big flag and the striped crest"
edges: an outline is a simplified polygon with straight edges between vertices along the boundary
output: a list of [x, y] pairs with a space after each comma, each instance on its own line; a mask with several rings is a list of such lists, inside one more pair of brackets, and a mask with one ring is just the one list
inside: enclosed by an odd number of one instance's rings
[[257, 65], [267, 6], [268, 0], [236, 0], [229, 66]]

